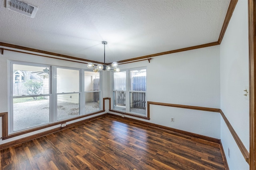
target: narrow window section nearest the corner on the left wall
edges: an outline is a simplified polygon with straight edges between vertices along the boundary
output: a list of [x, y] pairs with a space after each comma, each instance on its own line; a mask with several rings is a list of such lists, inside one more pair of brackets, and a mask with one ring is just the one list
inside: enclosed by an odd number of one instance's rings
[[100, 73], [84, 71], [85, 114], [100, 110]]

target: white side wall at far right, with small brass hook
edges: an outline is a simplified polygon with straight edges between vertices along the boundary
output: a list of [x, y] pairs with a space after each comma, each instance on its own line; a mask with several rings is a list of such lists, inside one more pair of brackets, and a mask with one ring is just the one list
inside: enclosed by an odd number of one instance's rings
[[[238, 0], [220, 45], [220, 109], [249, 150], [249, 101], [244, 97], [249, 85], [247, 3]], [[249, 169], [223, 119], [221, 141], [230, 170]]]

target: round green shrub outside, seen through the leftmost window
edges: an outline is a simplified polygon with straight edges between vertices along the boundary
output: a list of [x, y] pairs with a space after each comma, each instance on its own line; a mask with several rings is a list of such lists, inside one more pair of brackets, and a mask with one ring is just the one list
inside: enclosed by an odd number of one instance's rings
[[[24, 83], [24, 91], [28, 95], [39, 95], [42, 85], [43, 84], [41, 82], [29, 80]], [[37, 97], [33, 97], [33, 99], [36, 100]]]

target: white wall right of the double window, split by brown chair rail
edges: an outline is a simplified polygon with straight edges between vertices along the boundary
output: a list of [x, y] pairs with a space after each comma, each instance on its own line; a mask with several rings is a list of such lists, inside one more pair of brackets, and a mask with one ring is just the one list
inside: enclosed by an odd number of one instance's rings
[[[147, 67], [148, 101], [220, 108], [219, 53], [217, 45], [119, 67]], [[149, 122], [220, 139], [220, 113], [150, 105]]]

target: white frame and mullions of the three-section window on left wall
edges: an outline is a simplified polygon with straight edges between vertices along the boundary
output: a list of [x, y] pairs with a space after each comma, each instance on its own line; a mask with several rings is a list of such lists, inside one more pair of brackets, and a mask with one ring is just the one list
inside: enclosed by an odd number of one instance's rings
[[[29, 128], [23, 128], [19, 130], [14, 131], [14, 126], [13, 126], [13, 83], [14, 83], [14, 71], [13, 71], [13, 64], [18, 64], [18, 65], [29, 65], [29, 66], [38, 66], [38, 67], [48, 67], [49, 68], [49, 92], [48, 94], [43, 94], [43, 95], [34, 95], [34, 96], [49, 96], [49, 122], [32, 126]], [[66, 117], [64, 119], [57, 120], [57, 95], [58, 94], [64, 94], [64, 93], [56, 93], [57, 91], [57, 68], [64, 68], [64, 69], [73, 69], [73, 70], [78, 70], [79, 71], [79, 91], [75, 92], [79, 94], [79, 109], [80, 109], [80, 114], [75, 115], [72, 117]], [[43, 129], [45, 127], [50, 127], [53, 125], [58, 125], [59, 123], [65, 123], [68, 121], [74, 121], [76, 119], [81, 119], [83, 117], [88, 117], [91, 115], [95, 115], [98, 113], [103, 113], [103, 110], [100, 110], [102, 108], [102, 72], [100, 72], [100, 82], [99, 82], [99, 90], [96, 92], [100, 93], [99, 97], [99, 110], [97, 111], [92, 111], [90, 113], [85, 113], [85, 92], [84, 92], [84, 71], [90, 71], [93, 72], [93, 70], [90, 69], [83, 69], [83, 68], [76, 68], [76, 67], [65, 67], [65, 66], [57, 66], [57, 65], [49, 65], [49, 64], [40, 64], [40, 63], [31, 63], [31, 62], [26, 62], [26, 61], [14, 61], [14, 60], [8, 60], [8, 136], [17, 136], [20, 134], [26, 134], [26, 132], [31, 131], [31, 130], [39, 130]], [[94, 91], [92, 91], [94, 92]], [[73, 94], [73, 92], [66, 93], [66, 94]], [[24, 96], [18, 96], [15, 98], [19, 97], [24, 97]], [[26, 97], [26, 96], [25, 96]], [[30, 96], [28, 96], [30, 97]]]

